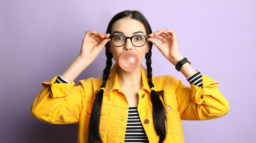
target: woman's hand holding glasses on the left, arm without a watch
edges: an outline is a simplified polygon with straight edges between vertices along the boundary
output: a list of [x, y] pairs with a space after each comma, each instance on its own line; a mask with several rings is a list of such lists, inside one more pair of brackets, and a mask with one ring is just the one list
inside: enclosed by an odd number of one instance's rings
[[110, 41], [110, 34], [102, 34], [93, 30], [86, 31], [79, 57], [93, 62], [105, 44]]

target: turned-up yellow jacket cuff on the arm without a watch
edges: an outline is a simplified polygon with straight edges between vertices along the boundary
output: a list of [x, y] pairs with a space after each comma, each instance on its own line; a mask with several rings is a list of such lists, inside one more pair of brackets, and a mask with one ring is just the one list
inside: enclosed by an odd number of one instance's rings
[[41, 84], [42, 87], [51, 86], [51, 97], [65, 97], [72, 90], [75, 82], [73, 81], [71, 84], [69, 83], [54, 83], [59, 75], [55, 76], [49, 82], [43, 82]]

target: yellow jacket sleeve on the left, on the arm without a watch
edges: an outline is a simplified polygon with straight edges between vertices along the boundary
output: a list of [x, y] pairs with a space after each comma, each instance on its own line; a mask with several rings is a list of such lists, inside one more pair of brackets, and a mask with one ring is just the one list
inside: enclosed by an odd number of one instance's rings
[[75, 83], [54, 83], [58, 76], [50, 82], [41, 84], [44, 89], [35, 99], [30, 112], [32, 116], [43, 122], [54, 124], [78, 123], [85, 101], [86, 80]]

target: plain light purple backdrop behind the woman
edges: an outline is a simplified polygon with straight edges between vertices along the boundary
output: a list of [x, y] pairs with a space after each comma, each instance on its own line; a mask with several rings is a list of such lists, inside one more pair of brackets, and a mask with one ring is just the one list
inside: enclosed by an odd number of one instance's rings
[[[152, 30], [175, 29], [182, 56], [219, 82], [230, 111], [219, 119], [183, 121], [187, 143], [255, 142], [255, 34], [253, 0], [0, 2], [1, 142], [76, 142], [78, 124], [54, 125], [34, 119], [30, 107], [40, 84], [62, 73], [80, 52], [88, 30], [104, 33], [120, 11], [141, 11]], [[99, 78], [101, 52], [75, 83]], [[153, 47], [153, 75], [184, 76]]]

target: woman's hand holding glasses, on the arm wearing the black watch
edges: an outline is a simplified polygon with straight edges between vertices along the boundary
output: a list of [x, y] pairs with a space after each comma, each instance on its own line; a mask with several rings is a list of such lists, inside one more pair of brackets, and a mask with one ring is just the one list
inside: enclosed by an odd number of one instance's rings
[[[173, 29], [162, 29], [148, 36], [148, 41], [151, 41], [174, 66], [179, 60], [183, 59], [183, 56], [179, 53], [178, 41]], [[161, 40], [162, 43], [158, 42], [155, 38]]]

